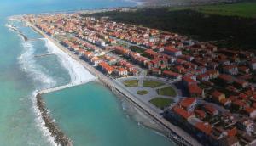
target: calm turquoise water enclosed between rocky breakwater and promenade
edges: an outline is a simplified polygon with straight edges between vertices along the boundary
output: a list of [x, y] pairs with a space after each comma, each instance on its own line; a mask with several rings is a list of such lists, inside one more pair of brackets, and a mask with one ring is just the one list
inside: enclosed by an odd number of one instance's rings
[[119, 98], [97, 82], [43, 95], [50, 115], [74, 145], [175, 145], [128, 116]]

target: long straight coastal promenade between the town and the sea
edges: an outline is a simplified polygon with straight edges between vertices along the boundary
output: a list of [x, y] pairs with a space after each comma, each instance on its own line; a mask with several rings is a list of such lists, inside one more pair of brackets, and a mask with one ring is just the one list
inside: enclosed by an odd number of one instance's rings
[[[122, 95], [124, 95], [125, 98], [127, 98], [131, 103], [137, 105], [138, 108], [146, 112], [148, 115], [150, 115], [152, 118], [154, 118], [154, 121], [157, 121], [162, 126], [165, 127], [168, 131], [170, 131], [170, 135], [167, 134], [167, 136], [171, 136], [173, 134], [177, 135], [179, 138], [172, 137], [173, 140], [175, 140], [179, 145], [195, 145], [195, 146], [201, 146], [201, 143], [197, 142], [195, 138], [192, 138], [187, 132], [184, 132], [181, 128], [178, 126], [172, 125], [169, 121], [166, 121], [162, 117], [162, 115], [159, 115], [158, 113], [154, 112], [154, 110], [151, 110], [148, 108], [147, 105], [143, 104], [140, 100], [138, 100], [136, 97], [134, 97], [125, 87], [119, 86], [119, 84], [116, 81], [113, 81], [113, 79], [108, 78], [102, 72], [99, 70], [96, 70], [93, 66], [86, 63], [84, 60], [79, 59], [79, 56], [73, 54], [70, 52], [67, 48], [64, 48], [59, 42], [57, 42], [54, 38], [46, 35], [43, 31], [39, 30], [36, 26], [30, 24], [29, 26], [32, 27], [35, 31], [38, 31], [42, 36], [49, 39], [49, 41], [55, 43], [55, 45], [60, 48], [63, 52], [67, 53], [70, 57], [77, 60], [81, 65], [84, 66], [85, 69], [89, 70], [91, 74], [95, 75], [99, 81], [102, 81], [106, 86], [108, 86], [110, 89], [115, 90]], [[70, 85], [71, 86], [71, 85]], [[60, 87], [61, 88], [61, 87]], [[58, 89], [58, 88], [56, 88]], [[54, 89], [53, 89], [54, 90]], [[45, 92], [50, 92], [51, 89], [46, 90]], [[44, 91], [43, 91], [44, 93]]]

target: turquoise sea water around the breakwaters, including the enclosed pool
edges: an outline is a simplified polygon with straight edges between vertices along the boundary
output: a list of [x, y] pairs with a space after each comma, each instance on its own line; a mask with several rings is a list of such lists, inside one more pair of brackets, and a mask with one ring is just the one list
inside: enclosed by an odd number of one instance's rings
[[[132, 6], [117, 0], [1, 0], [0, 2], [0, 145], [50, 145], [34, 107], [34, 91], [67, 84], [71, 77], [44, 40], [24, 42], [6, 24], [14, 14]], [[29, 38], [31, 29], [15, 23]], [[45, 95], [51, 115], [76, 145], [173, 145], [127, 117], [121, 102], [96, 83]]]

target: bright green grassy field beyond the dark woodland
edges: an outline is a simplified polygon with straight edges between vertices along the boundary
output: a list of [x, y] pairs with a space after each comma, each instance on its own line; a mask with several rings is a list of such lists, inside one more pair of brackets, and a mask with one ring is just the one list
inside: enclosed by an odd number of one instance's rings
[[170, 11], [191, 9], [203, 14], [218, 14], [224, 16], [240, 16], [245, 18], [256, 18], [256, 3], [232, 3], [232, 4], [212, 4], [192, 7], [173, 7]]

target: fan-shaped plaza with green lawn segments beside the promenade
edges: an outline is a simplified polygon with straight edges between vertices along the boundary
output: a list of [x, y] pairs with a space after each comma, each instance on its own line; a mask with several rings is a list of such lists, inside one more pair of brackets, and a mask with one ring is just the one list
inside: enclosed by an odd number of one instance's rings
[[180, 97], [180, 91], [173, 85], [174, 81], [154, 76], [126, 77], [118, 81], [135, 97], [158, 112], [162, 112]]

